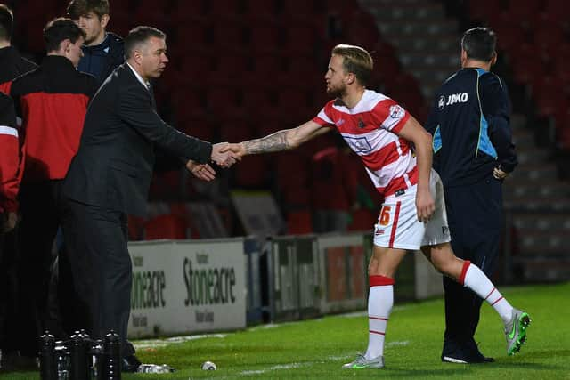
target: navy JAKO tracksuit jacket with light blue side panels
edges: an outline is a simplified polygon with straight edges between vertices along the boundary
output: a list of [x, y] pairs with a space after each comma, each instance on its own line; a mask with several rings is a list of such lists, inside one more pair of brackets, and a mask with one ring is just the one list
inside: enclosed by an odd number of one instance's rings
[[492, 72], [460, 69], [444, 82], [426, 129], [434, 136], [434, 168], [445, 188], [479, 182], [495, 166], [513, 171], [509, 114], [507, 86]]

